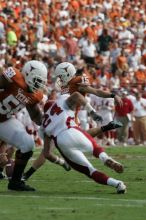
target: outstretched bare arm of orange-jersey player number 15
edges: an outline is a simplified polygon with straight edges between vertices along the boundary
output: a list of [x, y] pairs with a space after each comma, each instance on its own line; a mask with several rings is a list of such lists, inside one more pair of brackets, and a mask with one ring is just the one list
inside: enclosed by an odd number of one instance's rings
[[91, 86], [80, 85], [78, 88], [78, 91], [84, 92], [84, 93], [94, 94], [94, 95], [102, 97], [102, 98], [114, 98], [115, 103], [117, 103], [120, 106], [123, 104], [122, 99], [118, 95], [111, 93], [111, 92], [103, 91], [101, 89], [95, 89]]

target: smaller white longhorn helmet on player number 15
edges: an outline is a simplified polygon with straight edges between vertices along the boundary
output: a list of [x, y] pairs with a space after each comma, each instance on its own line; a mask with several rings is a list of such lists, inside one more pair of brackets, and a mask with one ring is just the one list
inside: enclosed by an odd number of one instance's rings
[[56, 66], [55, 77], [59, 78], [60, 86], [66, 86], [75, 74], [76, 69], [71, 63], [63, 62]]

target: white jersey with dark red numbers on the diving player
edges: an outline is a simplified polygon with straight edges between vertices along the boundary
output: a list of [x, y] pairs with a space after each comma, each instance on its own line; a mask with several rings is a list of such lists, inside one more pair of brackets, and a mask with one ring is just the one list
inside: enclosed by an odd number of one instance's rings
[[42, 128], [49, 137], [56, 137], [60, 132], [77, 126], [74, 111], [66, 104], [67, 97], [68, 95], [61, 95], [55, 102], [48, 101], [45, 104]]

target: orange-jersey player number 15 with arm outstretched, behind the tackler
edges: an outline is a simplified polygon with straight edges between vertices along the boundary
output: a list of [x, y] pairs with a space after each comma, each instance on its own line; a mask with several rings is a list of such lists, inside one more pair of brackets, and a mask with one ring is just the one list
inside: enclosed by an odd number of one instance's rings
[[[57, 83], [61, 87], [62, 94], [72, 94], [73, 92], [78, 91], [84, 96], [86, 93], [90, 93], [102, 98], [114, 98], [117, 105], [121, 106], [123, 104], [122, 99], [118, 95], [91, 87], [90, 80], [86, 74], [83, 73], [82, 75], [77, 76], [76, 72], [74, 65], [69, 62], [63, 62], [57, 65], [54, 75], [57, 78]], [[88, 103], [86, 108], [91, 108], [91, 105]], [[79, 109], [80, 105], [77, 106], [76, 115]], [[94, 119], [96, 119], [96, 121], [102, 121], [102, 117], [97, 114], [94, 114]], [[106, 126], [106, 128], [103, 128], [103, 131], [112, 130], [121, 126], [122, 124], [120, 122], [112, 121]]]

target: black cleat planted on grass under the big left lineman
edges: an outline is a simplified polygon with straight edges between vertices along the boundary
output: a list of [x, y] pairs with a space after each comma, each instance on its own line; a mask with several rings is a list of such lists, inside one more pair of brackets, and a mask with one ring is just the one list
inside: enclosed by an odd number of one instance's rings
[[8, 189], [15, 191], [35, 191], [33, 187], [26, 185], [24, 181], [13, 181], [13, 180], [9, 181]]

